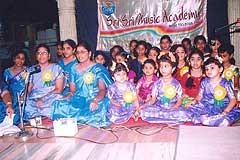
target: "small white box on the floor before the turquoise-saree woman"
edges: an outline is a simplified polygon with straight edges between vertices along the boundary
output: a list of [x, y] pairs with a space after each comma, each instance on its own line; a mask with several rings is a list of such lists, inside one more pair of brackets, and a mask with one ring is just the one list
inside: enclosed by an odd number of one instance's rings
[[77, 120], [75, 118], [60, 118], [53, 121], [55, 136], [75, 136], [78, 133]]

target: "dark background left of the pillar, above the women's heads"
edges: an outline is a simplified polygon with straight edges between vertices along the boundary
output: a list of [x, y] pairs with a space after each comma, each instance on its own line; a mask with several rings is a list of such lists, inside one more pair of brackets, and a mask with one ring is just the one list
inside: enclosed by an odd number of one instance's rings
[[[34, 48], [48, 29], [56, 31], [50, 46], [59, 39], [58, 9], [56, 0], [1, 0], [0, 2], [0, 62], [2, 70], [11, 64], [12, 54], [19, 49], [27, 50], [35, 63]], [[49, 31], [46, 31], [49, 32]]]

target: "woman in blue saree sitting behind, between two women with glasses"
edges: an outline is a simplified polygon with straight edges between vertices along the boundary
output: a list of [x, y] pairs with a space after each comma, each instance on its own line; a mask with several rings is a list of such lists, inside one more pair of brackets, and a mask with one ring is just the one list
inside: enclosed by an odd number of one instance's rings
[[77, 64], [78, 61], [74, 55], [76, 43], [72, 39], [67, 39], [63, 42], [63, 55], [64, 57], [58, 62], [64, 71], [65, 88], [63, 95], [66, 95], [69, 91], [69, 73], [71, 67]]

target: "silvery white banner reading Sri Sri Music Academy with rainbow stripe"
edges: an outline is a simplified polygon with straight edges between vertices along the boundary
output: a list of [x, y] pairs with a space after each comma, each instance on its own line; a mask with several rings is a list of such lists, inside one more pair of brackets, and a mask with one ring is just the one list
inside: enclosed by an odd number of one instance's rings
[[128, 49], [132, 39], [159, 47], [163, 35], [174, 43], [207, 35], [207, 0], [98, 0], [98, 50]]

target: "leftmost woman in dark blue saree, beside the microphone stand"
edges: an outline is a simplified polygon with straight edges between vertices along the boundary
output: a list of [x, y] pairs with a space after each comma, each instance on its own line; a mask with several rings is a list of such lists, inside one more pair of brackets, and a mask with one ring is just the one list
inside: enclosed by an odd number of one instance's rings
[[26, 59], [27, 55], [24, 51], [17, 51], [13, 58], [14, 65], [7, 68], [3, 73], [4, 80], [7, 83], [12, 96], [15, 125], [20, 122], [17, 94], [20, 94], [25, 88]]

